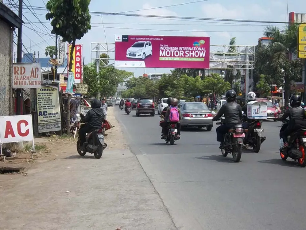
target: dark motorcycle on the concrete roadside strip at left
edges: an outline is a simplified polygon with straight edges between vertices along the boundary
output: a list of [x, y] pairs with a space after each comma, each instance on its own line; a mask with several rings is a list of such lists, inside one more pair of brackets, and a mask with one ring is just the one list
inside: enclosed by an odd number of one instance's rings
[[[83, 114], [76, 114], [78, 121], [82, 121]], [[82, 125], [81, 125], [82, 126]], [[104, 142], [103, 129], [97, 128], [86, 134], [86, 142], [83, 146], [80, 146], [80, 137], [76, 142], [76, 150], [80, 156], [84, 156], [87, 152], [94, 154], [95, 158], [100, 159], [103, 150], [107, 147], [107, 144]], [[79, 135], [80, 136], [80, 135]]]

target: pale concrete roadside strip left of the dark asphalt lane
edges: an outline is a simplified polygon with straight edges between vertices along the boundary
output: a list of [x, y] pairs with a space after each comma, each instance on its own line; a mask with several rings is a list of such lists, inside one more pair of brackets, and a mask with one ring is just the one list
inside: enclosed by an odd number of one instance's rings
[[101, 159], [80, 157], [71, 146], [65, 159], [41, 163], [27, 176], [11, 175], [1, 191], [1, 230], [177, 229], [126, 148], [113, 111], [108, 119], [115, 128], [106, 131]]

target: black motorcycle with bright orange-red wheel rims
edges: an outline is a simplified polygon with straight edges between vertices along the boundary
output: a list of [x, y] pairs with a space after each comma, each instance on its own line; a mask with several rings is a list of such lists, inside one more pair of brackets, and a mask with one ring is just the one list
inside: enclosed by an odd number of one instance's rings
[[[286, 121], [282, 121], [282, 128], [283, 126], [287, 125], [289, 119]], [[288, 136], [288, 144], [289, 146], [286, 148], [282, 148], [284, 143], [282, 138], [280, 139], [280, 150], [279, 153], [281, 155], [282, 160], [287, 160], [290, 157], [293, 160], [297, 160], [300, 167], [306, 166], [306, 159], [305, 159], [305, 152], [306, 152], [306, 128], [302, 128], [296, 130], [295, 132], [291, 133]]]

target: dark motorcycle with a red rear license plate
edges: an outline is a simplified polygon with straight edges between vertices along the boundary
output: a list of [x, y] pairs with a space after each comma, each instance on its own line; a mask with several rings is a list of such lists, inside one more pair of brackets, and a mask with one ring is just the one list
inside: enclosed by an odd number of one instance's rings
[[[220, 118], [220, 122], [217, 122], [216, 124], [223, 125], [224, 119]], [[231, 153], [235, 162], [240, 161], [245, 132], [246, 130], [243, 129], [243, 125], [239, 124], [234, 125], [233, 129], [230, 129], [224, 135], [225, 148], [221, 149], [222, 156], [226, 157]]]

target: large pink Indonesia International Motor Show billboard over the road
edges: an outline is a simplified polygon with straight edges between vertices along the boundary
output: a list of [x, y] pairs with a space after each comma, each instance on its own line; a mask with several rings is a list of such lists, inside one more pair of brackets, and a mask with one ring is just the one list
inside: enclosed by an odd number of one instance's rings
[[115, 67], [209, 68], [209, 37], [116, 35]]

